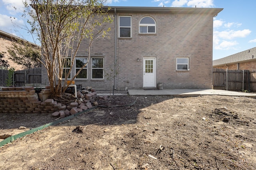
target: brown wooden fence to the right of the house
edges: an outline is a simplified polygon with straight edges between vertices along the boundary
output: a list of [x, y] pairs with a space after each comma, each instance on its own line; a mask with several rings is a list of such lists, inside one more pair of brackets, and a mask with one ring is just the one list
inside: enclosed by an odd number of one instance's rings
[[[254, 73], [256, 76], [256, 72]], [[212, 85], [213, 89], [231, 91], [255, 91], [250, 82], [252, 74], [249, 70], [225, 70], [213, 68]], [[254, 80], [256, 82], [256, 80]]]

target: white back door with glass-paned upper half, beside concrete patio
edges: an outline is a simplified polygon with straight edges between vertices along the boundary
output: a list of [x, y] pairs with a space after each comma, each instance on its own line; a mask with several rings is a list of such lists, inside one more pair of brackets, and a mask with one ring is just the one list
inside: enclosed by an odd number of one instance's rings
[[[146, 60], [152, 61], [153, 72], [146, 72]], [[143, 88], [156, 87], [156, 57], [143, 57]]]

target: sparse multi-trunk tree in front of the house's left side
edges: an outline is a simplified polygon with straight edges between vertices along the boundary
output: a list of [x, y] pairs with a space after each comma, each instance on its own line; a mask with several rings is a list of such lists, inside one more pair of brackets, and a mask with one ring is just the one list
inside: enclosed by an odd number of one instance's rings
[[[112, 17], [103, 7], [105, 0], [30, 0], [24, 16], [32, 20], [31, 33], [42, 45], [42, 65], [47, 69], [53, 97], [61, 97], [86, 66], [94, 40], [106, 37]], [[73, 77], [70, 72], [82, 41], [87, 41], [88, 60]], [[65, 71], [68, 65], [69, 69]], [[70, 78], [70, 83], [67, 82]]]

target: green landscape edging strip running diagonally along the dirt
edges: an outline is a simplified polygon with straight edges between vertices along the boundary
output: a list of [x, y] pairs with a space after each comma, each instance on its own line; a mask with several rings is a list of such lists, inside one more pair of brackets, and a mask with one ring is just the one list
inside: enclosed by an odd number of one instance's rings
[[34, 129], [30, 129], [30, 130], [28, 130], [28, 131], [19, 133], [19, 134], [17, 134], [17, 135], [13, 135], [13, 136], [11, 136], [11, 137], [8, 137], [8, 138], [6, 138], [6, 139], [4, 139], [3, 141], [0, 142], [0, 147], [6, 145], [6, 144], [8, 144], [8, 143], [11, 143], [11, 142], [15, 141], [15, 140], [18, 139], [18, 138], [24, 137], [24, 136], [29, 135], [29, 134], [31, 134], [31, 133], [34, 133], [34, 132], [36, 132], [36, 131], [40, 131], [40, 130], [46, 128], [46, 127], [53, 126], [53, 125], [57, 125], [57, 124], [60, 123], [60, 122], [63, 122], [63, 121], [72, 119], [73, 117], [76, 117], [76, 116], [78, 116], [78, 115], [80, 115], [80, 114], [82, 114], [82, 113], [84, 113], [84, 112], [90, 111], [90, 110], [92, 110], [92, 109], [96, 109], [97, 107], [98, 107], [98, 106], [92, 107], [92, 108], [90, 108], [90, 109], [86, 109], [86, 110], [81, 111], [81, 112], [78, 112], [78, 113], [76, 113], [76, 114], [74, 114], [74, 115], [70, 115], [70, 116], [68, 116], [68, 117], [64, 117], [64, 118], [62, 118], [62, 119], [58, 119], [58, 120], [56, 120], [56, 121], [53, 121], [53, 122], [50, 122], [50, 123], [46, 123], [45, 125], [42, 125], [42, 126], [39, 126], [39, 127], [34, 128]]

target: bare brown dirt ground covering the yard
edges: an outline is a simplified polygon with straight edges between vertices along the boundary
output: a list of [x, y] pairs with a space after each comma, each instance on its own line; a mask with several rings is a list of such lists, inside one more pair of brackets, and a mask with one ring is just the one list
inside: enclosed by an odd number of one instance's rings
[[[134, 105], [122, 106], [136, 101]], [[255, 170], [256, 99], [110, 96], [0, 148], [0, 170]], [[50, 115], [0, 115], [0, 134]]]

